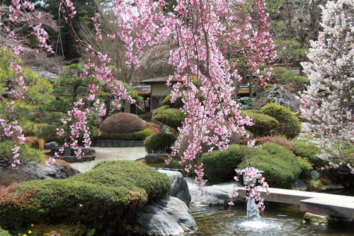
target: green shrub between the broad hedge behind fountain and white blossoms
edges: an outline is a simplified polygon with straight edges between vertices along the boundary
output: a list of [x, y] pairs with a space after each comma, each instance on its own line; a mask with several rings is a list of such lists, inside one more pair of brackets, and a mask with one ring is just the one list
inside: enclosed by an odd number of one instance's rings
[[306, 157], [315, 168], [324, 167], [324, 165], [327, 164], [325, 160], [317, 157], [317, 154], [319, 154], [321, 150], [319, 147], [316, 147], [316, 145], [308, 142], [307, 140], [296, 139], [291, 140], [290, 143], [292, 145], [292, 149], [294, 150], [294, 154], [297, 155], [297, 157]]

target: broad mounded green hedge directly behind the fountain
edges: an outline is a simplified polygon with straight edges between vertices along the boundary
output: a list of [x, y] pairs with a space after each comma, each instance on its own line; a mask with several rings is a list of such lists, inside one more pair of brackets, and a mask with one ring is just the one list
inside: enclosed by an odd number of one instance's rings
[[286, 188], [297, 181], [302, 167], [295, 155], [274, 142], [266, 142], [260, 147], [229, 145], [225, 151], [202, 154], [205, 176], [209, 184], [232, 181], [234, 169], [246, 167], [244, 152], [252, 167], [263, 170], [265, 181], [270, 186]]

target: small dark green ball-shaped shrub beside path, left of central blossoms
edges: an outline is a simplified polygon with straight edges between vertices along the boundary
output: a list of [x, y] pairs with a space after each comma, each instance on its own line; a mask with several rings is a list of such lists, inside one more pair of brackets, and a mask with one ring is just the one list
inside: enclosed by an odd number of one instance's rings
[[144, 146], [147, 153], [171, 152], [171, 146], [176, 142], [176, 136], [170, 133], [155, 133], [145, 139]]

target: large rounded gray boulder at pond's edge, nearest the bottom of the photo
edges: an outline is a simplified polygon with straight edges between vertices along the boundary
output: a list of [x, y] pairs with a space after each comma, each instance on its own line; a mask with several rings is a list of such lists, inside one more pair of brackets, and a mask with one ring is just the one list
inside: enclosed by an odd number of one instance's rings
[[197, 225], [183, 201], [164, 196], [137, 213], [132, 229], [135, 235], [175, 236], [195, 232]]

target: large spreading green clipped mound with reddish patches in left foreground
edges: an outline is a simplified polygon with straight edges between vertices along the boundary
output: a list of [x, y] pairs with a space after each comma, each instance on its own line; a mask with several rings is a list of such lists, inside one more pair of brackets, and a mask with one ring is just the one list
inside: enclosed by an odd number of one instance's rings
[[27, 181], [0, 189], [0, 225], [81, 222], [94, 228], [118, 226], [169, 188], [169, 178], [146, 164], [101, 162], [69, 179]]

